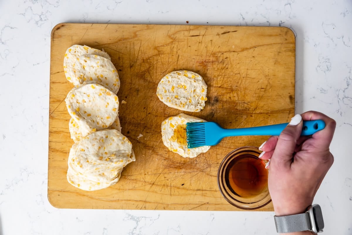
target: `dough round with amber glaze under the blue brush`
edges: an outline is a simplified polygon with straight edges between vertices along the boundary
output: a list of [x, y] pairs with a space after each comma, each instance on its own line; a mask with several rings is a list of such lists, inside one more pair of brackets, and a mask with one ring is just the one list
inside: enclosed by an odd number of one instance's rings
[[205, 153], [210, 146], [198, 148], [187, 148], [186, 124], [188, 122], [206, 122], [201, 118], [192, 117], [181, 113], [177, 116], [165, 119], [161, 124], [161, 135], [163, 143], [170, 151], [180, 154], [183, 157], [196, 157]]

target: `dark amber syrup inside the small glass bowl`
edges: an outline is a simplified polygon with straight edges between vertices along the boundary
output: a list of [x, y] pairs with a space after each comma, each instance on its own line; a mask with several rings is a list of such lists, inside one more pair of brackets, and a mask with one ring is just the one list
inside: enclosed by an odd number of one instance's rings
[[239, 197], [255, 197], [268, 187], [265, 163], [251, 154], [235, 157], [225, 172], [228, 188]]

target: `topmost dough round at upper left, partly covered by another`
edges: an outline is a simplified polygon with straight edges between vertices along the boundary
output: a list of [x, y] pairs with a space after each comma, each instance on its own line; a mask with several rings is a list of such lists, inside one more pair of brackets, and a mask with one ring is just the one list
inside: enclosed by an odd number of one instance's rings
[[69, 47], [65, 52], [64, 72], [66, 79], [75, 86], [81, 84], [79, 77], [76, 75], [77, 61], [79, 61], [81, 55], [99, 55], [111, 60], [110, 56], [105, 51], [94, 49], [86, 45], [73, 45]]

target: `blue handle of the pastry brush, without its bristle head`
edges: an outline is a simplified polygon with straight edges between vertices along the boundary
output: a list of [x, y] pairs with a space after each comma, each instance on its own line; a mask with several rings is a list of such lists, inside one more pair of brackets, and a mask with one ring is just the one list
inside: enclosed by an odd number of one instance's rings
[[[239, 129], [225, 129], [225, 136], [244, 136], [244, 135], [280, 135], [281, 131], [285, 129], [288, 123], [270, 125], [270, 126], [257, 126], [250, 128]], [[303, 121], [303, 128], [301, 136], [313, 135], [315, 132], [325, 128], [323, 120]]]

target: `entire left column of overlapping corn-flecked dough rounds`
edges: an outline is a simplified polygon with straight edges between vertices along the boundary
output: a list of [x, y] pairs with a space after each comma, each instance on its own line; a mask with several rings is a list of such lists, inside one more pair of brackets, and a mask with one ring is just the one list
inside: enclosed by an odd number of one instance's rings
[[121, 134], [117, 70], [105, 51], [73, 45], [65, 53], [64, 71], [76, 85], [65, 99], [75, 142], [67, 180], [87, 191], [114, 185], [123, 168], [136, 160], [132, 143]]

